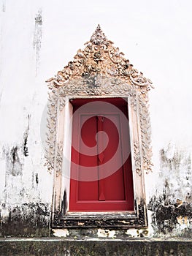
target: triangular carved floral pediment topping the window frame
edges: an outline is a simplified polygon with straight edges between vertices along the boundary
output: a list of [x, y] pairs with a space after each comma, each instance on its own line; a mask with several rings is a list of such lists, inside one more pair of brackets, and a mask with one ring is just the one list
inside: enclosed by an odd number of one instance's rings
[[148, 90], [152, 87], [152, 82], [142, 72], [134, 69], [98, 25], [90, 41], [85, 43], [85, 49], [77, 50], [74, 60], [69, 61], [64, 69], [58, 71], [55, 78], [50, 78], [47, 82], [51, 89], [65, 86], [76, 79], [83, 79], [85, 83], [96, 86], [96, 81], [101, 81], [102, 78], [121, 80], [123, 84], [133, 88], [145, 87]]

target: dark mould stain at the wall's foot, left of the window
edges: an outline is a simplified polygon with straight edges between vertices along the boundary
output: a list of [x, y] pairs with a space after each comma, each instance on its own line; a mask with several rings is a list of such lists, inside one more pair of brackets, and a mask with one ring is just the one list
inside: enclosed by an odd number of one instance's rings
[[1, 236], [49, 236], [50, 210], [44, 203], [23, 203], [1, 219]]

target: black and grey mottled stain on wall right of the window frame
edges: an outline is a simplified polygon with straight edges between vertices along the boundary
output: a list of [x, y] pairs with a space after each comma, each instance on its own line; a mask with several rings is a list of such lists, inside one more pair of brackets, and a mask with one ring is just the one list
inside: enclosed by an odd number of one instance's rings
[[191, 157], [188, 152], [169, 145], [160, 151], [160, 159], [159, 181], [164, 182], [164, 186], [162, 192], [153, 195], [148, 204], [155, 235], [191, 238]]

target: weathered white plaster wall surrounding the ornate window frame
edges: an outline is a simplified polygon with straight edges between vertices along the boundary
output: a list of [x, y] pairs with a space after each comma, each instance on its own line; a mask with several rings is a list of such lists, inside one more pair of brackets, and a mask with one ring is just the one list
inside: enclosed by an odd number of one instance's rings
[[42, 144], [45, 80], [72, 60], [97, 23], [155, 85], [147, 235], [191, 236], [191, 1], [0, 4], [1, 236], [49, 234], [53, 173], [44, 166]]

